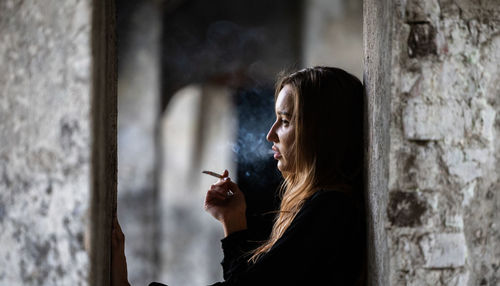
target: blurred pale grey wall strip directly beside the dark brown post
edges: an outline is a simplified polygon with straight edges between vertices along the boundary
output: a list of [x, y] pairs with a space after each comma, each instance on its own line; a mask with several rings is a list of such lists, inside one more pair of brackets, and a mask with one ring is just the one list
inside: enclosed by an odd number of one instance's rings
[[147, 285], [158, 265], [158, 151], [161, 7], [117, 1], [118, 217], [127, 234], [133, 285]]

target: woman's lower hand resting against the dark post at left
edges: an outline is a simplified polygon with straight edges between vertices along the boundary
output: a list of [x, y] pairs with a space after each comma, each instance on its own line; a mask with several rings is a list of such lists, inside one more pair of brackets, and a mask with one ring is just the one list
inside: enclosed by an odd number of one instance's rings
[[111, 234], [111, 285], [130, 286], [127, 274], [127, 259], [125, 258], [125, 235], [118, 223], [116, 214], [113, 216], [113, 231]]

